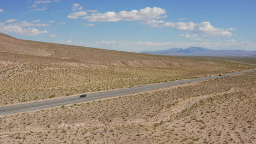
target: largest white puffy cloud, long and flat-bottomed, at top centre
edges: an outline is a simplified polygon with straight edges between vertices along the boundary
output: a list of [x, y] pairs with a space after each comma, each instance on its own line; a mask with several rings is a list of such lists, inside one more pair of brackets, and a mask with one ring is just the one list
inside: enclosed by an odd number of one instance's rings
[[165, 14], [166, 11], [162, 8], [144, 8], [141, 10], [131, 10], [131, 11], [120, 11], [119, 13], [115, 13], [114, 11], [108, 11], [107, 13], [96, 13], [91, 14], [90, 16], [85, 16], [82, 19], [88, 21], [100, 21], [100, 22], [117, 22], [117, 21], [141, 21], [141, 20], [152, 20], [159, 19]]

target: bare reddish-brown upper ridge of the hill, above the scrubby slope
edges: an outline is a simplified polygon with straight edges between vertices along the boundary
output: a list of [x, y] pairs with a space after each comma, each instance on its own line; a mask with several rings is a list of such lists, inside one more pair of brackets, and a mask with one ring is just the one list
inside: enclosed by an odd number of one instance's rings
[[[43, 43], [39, 41], [21, 40], [0, 34], [0, 52], [8, 52], [30, 56], [69, 59], [85, 64], [131, 65], [131, 66], [172, 66], [171, 57], [159, 57], [91, 47], [63, 44]], [[183, 58], [176, 61], [184, 61]]]

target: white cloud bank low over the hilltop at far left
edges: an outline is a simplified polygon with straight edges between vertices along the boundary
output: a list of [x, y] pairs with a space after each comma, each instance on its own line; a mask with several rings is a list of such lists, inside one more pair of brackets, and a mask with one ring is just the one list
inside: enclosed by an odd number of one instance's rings
[[20, 35], [39, 35], [43, 33], [48, 33], [48, 31], [39, 31], [36, 28], [22, 28], [22, 26], [18, 25], [7, 25], [4, 23], [0, 23], [0, 32], [2, 33], [16, 33]]

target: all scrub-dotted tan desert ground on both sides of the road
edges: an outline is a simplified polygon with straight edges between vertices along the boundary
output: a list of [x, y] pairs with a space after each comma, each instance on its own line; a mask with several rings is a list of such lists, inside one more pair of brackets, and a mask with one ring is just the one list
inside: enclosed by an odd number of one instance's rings
[[[0, 34], [0, 105], [254, 69]], [[0, 143], [256, 143], [256, 73], [0, 117]]]

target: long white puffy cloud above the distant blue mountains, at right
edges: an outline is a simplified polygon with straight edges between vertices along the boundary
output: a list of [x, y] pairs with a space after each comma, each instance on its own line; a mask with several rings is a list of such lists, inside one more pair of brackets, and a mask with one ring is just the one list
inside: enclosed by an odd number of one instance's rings
[[193, 31], [194, 33], [201, 33], [204, 37], [219, 36], [231, 37], [233, 34], [230, 31], [235, 31], [235, 28], [223, 29], [214, 27], [210, 22], [165, 22], [162, 25], [153, 25], [154, 27], [173, 27], [179, 31]]

